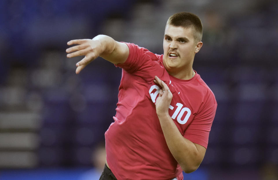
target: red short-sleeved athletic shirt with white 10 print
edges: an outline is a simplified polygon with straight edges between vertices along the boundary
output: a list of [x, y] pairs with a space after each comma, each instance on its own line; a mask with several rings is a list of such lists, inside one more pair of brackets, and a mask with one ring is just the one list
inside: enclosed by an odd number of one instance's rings
[[122, 68], [114, 123], [105, 132], [107, 163], [118, 180], [167, 180], [182, 169], [164, 138], [155, 101], [160, 87], [158, 76], [173, 94], [169, 115], [184, 138], [207, 147], [217, 102], [199, 74], [190, 80], [169, 75], [163, 55], [126, 43], [129, 56]]

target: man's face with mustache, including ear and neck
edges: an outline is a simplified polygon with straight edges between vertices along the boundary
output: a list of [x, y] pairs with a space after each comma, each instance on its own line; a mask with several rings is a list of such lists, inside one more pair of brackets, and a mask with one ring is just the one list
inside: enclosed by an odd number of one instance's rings
[[202, 44], [195, 41], [192, 28], [167, 25], [163, 40], [163, 65], [169, 74], [192, 72], [195, 53]]

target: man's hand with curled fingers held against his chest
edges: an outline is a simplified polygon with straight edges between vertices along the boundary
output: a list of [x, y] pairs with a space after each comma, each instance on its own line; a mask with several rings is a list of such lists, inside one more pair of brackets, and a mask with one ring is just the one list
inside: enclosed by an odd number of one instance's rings
[[153, 81], [162, 87], [159, 91], [158, 98], [156, 99], [156, 114], [158, 116], [169, 115], [168, 109], [173, 98], [173, 94], [167, 84], [160, 80], [157, 76], [154, 77]]

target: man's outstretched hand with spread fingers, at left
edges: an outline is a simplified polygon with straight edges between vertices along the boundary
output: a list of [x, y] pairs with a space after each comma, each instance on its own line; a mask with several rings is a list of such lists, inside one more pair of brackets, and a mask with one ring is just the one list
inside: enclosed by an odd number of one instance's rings
[[67, 45], [78, 44], [66, 49], [67, 57], [85, 56], [81, 61], [76, 63], [76, 74], [79, 74], [86, 65], [96, 59], [101, 53], [101, 43], [99, 40], [78, 39], [67, 42]]

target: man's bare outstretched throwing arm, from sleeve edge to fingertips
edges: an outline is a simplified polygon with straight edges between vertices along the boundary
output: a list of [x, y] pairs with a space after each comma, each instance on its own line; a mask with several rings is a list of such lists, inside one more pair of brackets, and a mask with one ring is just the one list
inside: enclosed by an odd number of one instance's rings
[[124, 63], [129, 55], [127, 44], [117, 42], [106, 35], [98, 35], [91, 39], [71, 40], [67, 45], [78, 44], [67, 48], [67, 57], [85, 56], [81, 61], [76, 63], [76, 74], [79, 74], [86, 65], [97, 57], [102, 57], [107, 61], [119, 64]]

